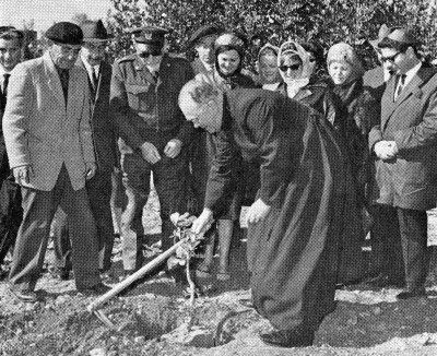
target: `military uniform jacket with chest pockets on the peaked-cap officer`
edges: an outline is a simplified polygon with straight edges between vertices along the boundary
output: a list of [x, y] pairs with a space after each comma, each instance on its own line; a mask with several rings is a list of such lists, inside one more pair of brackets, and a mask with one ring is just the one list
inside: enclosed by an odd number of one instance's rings
[[[191, 66], [184, 58], [164, 55], [157, 81], [138, 55], [117, 61], [110, 84], [110, 110], [125, 143], [139, 149], [147, 141], [147, 131], [157, 135], [172, 134], [182, 144], [189, 143], [193, 126], [180, 111], [178, 96], [192, 78]], [[147, 121], [152, 116], [157, 120]]]

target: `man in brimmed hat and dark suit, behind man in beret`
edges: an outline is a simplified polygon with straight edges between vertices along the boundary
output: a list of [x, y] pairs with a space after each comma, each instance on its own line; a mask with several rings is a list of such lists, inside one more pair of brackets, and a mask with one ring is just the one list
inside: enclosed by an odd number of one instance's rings
[[[111, 174], [117, 165], [116, 133], [109, 111], [111, 66], [105, 60], [105, 50], [110, 38], [102, 20], [85, 21], [81, 25], [83, 44], [78, 66], [88, 74], [91, 96], [91, 128], [97, 170], [86, 181], [91, 211], [97, 227], [99, 248], [98, 268], [102, 273], [110, 269], [114, 246], [114, 228], [110, 212]], [[58, 212], [54, 221], [56, 268], [61, 280], [69, 277], [71, 247], [67, 230], [67, 218]]]

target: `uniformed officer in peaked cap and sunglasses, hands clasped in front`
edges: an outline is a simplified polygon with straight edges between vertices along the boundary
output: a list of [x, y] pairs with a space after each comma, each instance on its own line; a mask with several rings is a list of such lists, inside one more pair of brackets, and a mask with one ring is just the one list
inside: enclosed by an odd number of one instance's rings
[[142, 211], [153, 171], [160, 198], [162, 248], [172, 246], [169, 216], [185, 212], [187, 147], [193, 127], [178, 107], [178, 95], [193, 78], [190, 63], [163, 52], [167, 29], [130, 31], [135, 54], [114, 64], [110, 110], [121, 138], [121, 169], [128, 204], [121, 217], [122, 258], [127, 274], [142, 264]]

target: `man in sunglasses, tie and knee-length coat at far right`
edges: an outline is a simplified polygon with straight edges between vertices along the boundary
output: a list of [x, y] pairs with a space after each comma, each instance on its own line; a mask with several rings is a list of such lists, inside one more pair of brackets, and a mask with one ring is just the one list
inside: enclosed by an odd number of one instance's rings
[[[394, 28], [378, 47], [394, 73], [381, 100], [380, 124], [369, 134], [375, 153], [375, 202], [381, 218], [401, 237], [406, 289], [399, 299], [425, 296], [428, 269], [427, 215], [437, 194], [437, 70], [423, 63], [418, 43], [405, 28]], [[389, 225], [389, 224], [388, 224]]]

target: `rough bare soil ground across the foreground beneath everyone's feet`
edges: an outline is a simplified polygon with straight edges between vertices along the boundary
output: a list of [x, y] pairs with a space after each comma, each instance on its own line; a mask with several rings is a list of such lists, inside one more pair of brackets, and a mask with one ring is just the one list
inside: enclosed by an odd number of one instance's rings
[[[246, 246], [237, 245], [231, 281], [203, 281], [209, 293], [193, 307], [182, 297], [184, 286], [165, 274], [151, 276], [103, 306], [115, 328], [86, 310], [95, 298], [78, 294], [71, 280], [45, 272], [36, 288], [44, 301], [32, 305], [17, 301], [1, 282], [0, 355], [437, 355], [437, 297], [397, 301], [400, 289], [338, 290], [338, 308], [323, 320], [314, 346], [264, 345], [258, 333], [270, 327], [251, 308]], [[151, 258], [156, 250], [145, 253]], [[51, 259], [49, 250], [47, 265]], [[113, 262], [110, 285], [122, 273], [119, 245]], [[427, 290], [437, 295], [432, 284]]]

